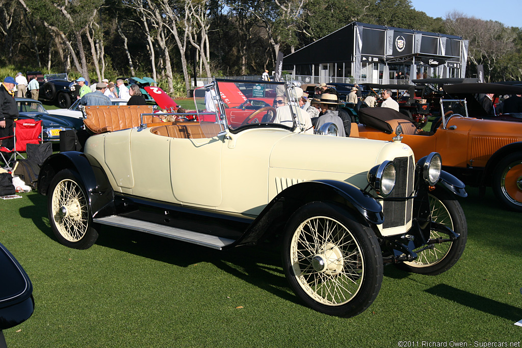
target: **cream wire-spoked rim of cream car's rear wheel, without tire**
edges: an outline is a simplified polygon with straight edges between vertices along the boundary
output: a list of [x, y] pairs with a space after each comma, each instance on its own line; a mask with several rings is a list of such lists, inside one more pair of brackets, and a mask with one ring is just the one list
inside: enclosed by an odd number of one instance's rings
[[85, 194], [70, 179], [60, 181], [52, 197], [54, 225], [68, 242], [78, 242], [88, 231], [89, 212]]

